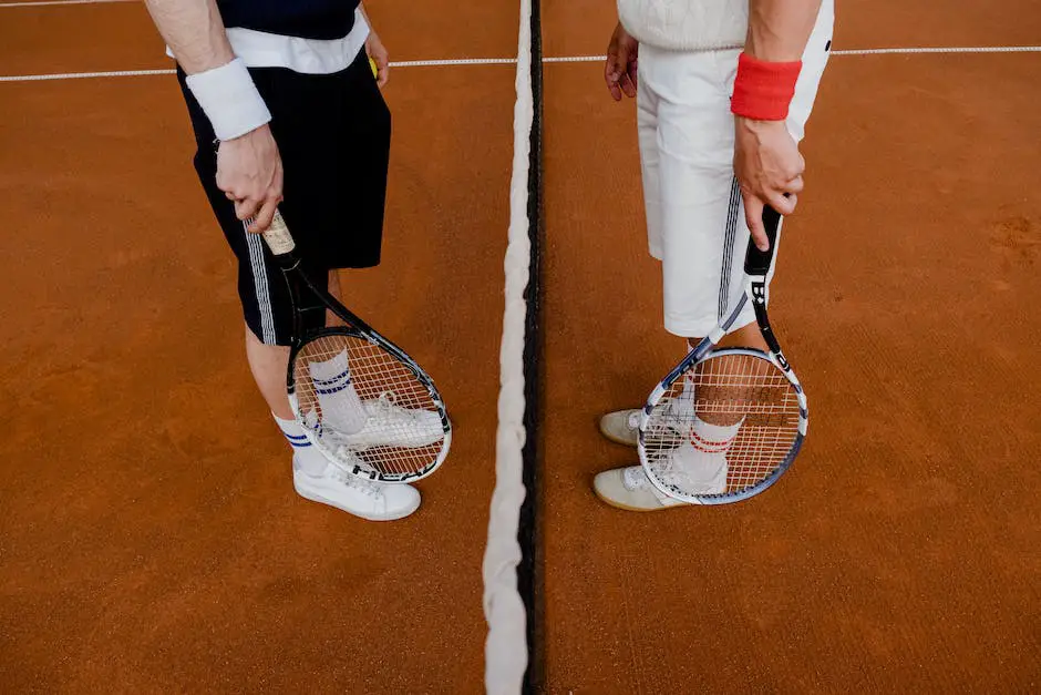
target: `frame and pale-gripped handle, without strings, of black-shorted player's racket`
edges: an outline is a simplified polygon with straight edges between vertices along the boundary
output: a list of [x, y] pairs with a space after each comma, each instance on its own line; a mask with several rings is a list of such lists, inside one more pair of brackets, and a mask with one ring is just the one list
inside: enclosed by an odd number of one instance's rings
[[[452, 422], [449, 419], [444, 399], [441, 397], [441, 391], [434, 385], [434, 380], [422, 367], [420, 367], [420, 365], [414, 359], [412, 359], [408, 352], [405, 352], [402, 348], [388, 338], [383, 337], [368, 323], [359, 318], [353, 311], [337, 300], [336, 297], [330, 295], [327, 289], [319, 287], [307, 275], [307, 273], [303, 272], [302, 267], [300, 266], [301, 259], [295, 251], [296, 243], [292, 241], [292, 237], [289, 234], [289, 229], [286, 226], [286, 222], [282, 218], [280, 212], [276, 211], [271, 225], [261, 234], [261, 236], [267, 243], [268, 248], [271, 251], [271, 254], [275, 256], [276, 262], [281, 267], [282, 274], [286, 276], [286, 282], [289, 284], [290, 301], [293, 305], [293, 338], [292, 345], [289, 348], [289, 364], [286, 370], [286, 394], [289, 397], [289, 406], [292, 410], [293, 418], [300, 425], [300, 428], [303, 430], [303, 435], [307, 437], [308, 441], [337, 468], [355, 478], [385, 483], [411, 483], [432, 474], [441, 467], [445, 458], [447, 458], [449, 449], [452, 446]], [[300, 320], [301, 309], [298, 307], [297, 289], [290, 279], [290, 275], [293, 275], [302, 280], [307, 288], [316, 297], [318, 297], [326, 308], [349, 324], [349, 326], [327, 326], [322, 328], [305, 330], [302, 328], [302, 321]], [[307, 425], [303, 418], [303, 413], [300, 410], [296, 379], [293, 378], [296, 360], [301, 350], [303, 350], [308, 344], [319, 338], [334, 335], [361, 338], [367, 340], [369, 344], [390, 352], [394, 358], [398, 359], [399, 362], [401, 362], [403, 367], [405, 367], [405, 369], [415, 376], [420, 384], [430, 394], [431, 400], [437, 408], [437, 416], [441, 419], [441, 426], [444, 430], [444, 438], [441, 440], [441, 450], [439, 451], [437, 457], [429, 466], [423, 467], [423, 469], [420, 471], [395, 473], [380, 472], [374, 468], [346, 463], [339, 456], [336, 454], [336, 452], [330, 451], [329, 446], [326, 444], [326, 442], [323, 442], [322, 439], [316, 435], [311, 427]]]

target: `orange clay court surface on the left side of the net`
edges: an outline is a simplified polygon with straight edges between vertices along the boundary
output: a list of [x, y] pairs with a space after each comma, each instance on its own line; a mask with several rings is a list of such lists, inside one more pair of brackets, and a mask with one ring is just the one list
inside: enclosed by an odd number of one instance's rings
[[[141, 3], [0, 12], [4, 74], [172, 67]], [[399, 60], [516, 50], [509, 3], [371, 17]], [[480, 691], [513, 83], [384, 92], [384, 263], [346, 296], [455, 426], [386, 524], [292, 489], [174, 76], [0, 83], [0, 691]]]

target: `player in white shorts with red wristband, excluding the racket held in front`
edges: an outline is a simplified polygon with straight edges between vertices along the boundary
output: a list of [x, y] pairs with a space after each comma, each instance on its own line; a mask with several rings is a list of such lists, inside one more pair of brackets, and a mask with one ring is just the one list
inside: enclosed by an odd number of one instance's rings
[[[648, 245], [661, 260], [664, 327], [691, 349], [740, 297], [750, 234], [766, 247], [764, 205], [795, 212], [805, 168], [798, 142], [831, 51], [834, 0], [618, 0], [618, 13], [605, 79], [616, 101], [637, 99]], [[724, 345], [766, 348], [751, 306], [735, 326]], [[673, 407], [684, 405], [692, 407]], [[638, 409], [609, 412], [600, 431], [636, 446], [638, 422]], [[718, 442], [736, 428], [692, 435]], [[725, 471], [722, 458], [689, 463], [708, 478]], [[684, 504], [662, 494], [639, 466], [601, 472], [594, 489], [627, 510]]]

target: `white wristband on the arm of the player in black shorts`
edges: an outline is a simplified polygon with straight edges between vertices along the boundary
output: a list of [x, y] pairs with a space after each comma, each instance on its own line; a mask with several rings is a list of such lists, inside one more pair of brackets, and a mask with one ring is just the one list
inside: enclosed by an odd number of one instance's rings
[[187, 75], [185, 82], [214, 126], [217, 140], [245, 135], [271, 120], [241, 58]]

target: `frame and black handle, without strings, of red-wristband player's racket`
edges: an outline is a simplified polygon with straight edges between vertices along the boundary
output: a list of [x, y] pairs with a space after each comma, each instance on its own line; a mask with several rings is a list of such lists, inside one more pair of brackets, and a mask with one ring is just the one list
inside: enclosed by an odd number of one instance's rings
[[[787, 358], [785, 358], [784, 354], [781, 351], [781, 346], [777, 343], [777, 338], [770, 326], [770, 318], [766, 315], [766, 303], [769, 298], [766, 274], [770, 270], [770, 266], [773, 262], [773, 256], [776, 251], [777, 231], [781, 222], [780, 215], [767, 206], [763, 211], [763, 222], [766, 227], [766, 236], [770, 239], [770, 249], [766, 252], [761, 252], [755, 247], [752, 239], [749, 241], [744, 272], [744, 292], [738, 299], [736, 306], [734, 306], [730, 314], [721, 319], [720, 323], [717, 324], [715, 327], [709, 333], [709, 335], [702, 338], [694, 349], [688, 352], [688, 355], [682, 360], [680, 360], [672, 371], [670, 371], [655, 387], [650, 396], [647, 398], [647, 402], [645, 403], [643, 408], [640, 409], [640, 429], [637, 439], [637, 451], [640, 457], [640, 464], [643, 468], [643, 472], [647, 474], [647, 478], [651, 481], [655, 488], [657, 488], [662, 494], [666, 494], [672, 499], [688, 502], [690, 504], [730, 504], [759, 494], [760, 492], [773, 486], [792, 466], [792, 463], [795, 461], [795, 457], [798, 456], [798, 452], [802, 449], [803, 440], [806, 438], [806, 430], [810, 423], [810, 411], [806, 401], [806, 392], [803, 390], [803, 386], [798, 381], [798, 377], [795, 376], [795, 371], [792, 369]], [[741, 311], [749, 301], [752, 303], [752, 308], [755, 311], [755, 323], [759, 326], [760, 334], [762, 334], [763, 340], [766, 343], [769, 350], [763, 351], [751, 347], [717, 347], [719, 341], [723, 339], [723, 336], [725, 336], [733, 327], [734, 323], [738, 320], [738, 317], [741, 315]], [[707, 361], [708, 359], [713, 359], [725, 355], [744, 355], [759, 359], [765, 359], [776, 367], [782, 375], [784, 375], [789, 384], [792, 385], [798, 402], [798, 423], [796, 427], [795, 440], [792, 443], [787, 454], [777, 464], [776, 469], [771, 471], [766, 478], [754, 486], [749, 486], [734, 492], [695, 495], [686, 494], [667, 482], [660, 480], [653, 466], [648, 460], [649, 457], [646, 447], [648, 425], [650, 422], [650, 417], [655, 407], [661, 401], [666, 394], [670, 391], [672, 386], [679, 379], [681, 379], [684, 374], [687, 374], [687, 371], [697, 367], [697, 365]]]

